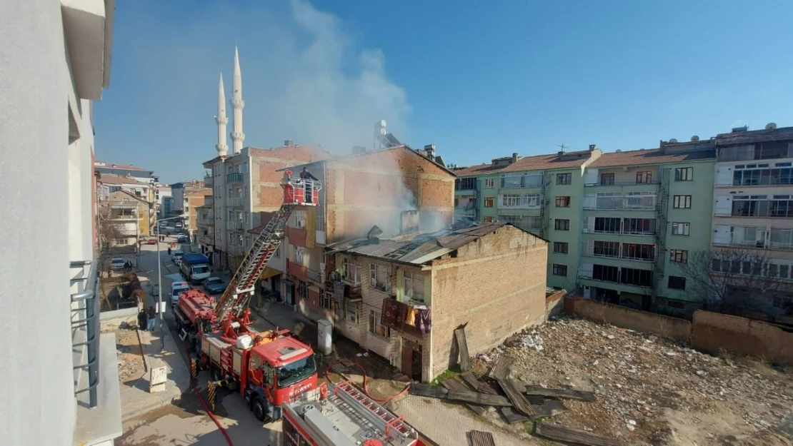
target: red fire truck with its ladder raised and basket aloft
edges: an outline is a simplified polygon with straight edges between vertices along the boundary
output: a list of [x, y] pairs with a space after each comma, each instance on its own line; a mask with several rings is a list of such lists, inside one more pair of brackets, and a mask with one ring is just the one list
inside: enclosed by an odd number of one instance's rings
[[182, 340], [192, 345], [213, 384], [239, 391], [259, 421], [275, 421], [282, 405], [316, 389], [314, 352], [289, 330], [260, 332], [251, 326], [248, 303], [256, 280], [281, 244], [289, 215], [297, 206], [319, 204], [320, 182], [282, 180], [284, 204], [255, 239], [226, 291], [217, 301], [199, 290], [179, 295], [174, 315]]

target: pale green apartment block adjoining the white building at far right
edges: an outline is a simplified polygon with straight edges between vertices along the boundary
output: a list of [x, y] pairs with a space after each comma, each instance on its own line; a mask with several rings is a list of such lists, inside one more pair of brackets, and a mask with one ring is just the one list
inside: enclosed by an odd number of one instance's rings
[[[577, 280], [584, 297], [682, 313], [702, 302], [686, 292], [681, 264], [708, 250], [713, 142], [661, 142], [603, 154], [584, 171]], [[561, 274], [551, 265], [553, 274]]]

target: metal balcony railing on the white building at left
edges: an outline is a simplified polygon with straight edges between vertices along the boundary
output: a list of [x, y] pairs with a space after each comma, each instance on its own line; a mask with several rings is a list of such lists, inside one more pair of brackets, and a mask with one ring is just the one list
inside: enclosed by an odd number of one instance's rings
[[99, 299], [97, 261], [72, 261], [71, 349], [75, 372], [75, 397], [88, 392], [89, 407], [98, 404], [99, 384]]

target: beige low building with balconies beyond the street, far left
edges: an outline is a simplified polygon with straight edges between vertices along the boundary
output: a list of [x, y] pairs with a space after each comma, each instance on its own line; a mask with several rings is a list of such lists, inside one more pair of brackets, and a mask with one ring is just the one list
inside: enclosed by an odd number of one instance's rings
[[109, 193], [99, 200], [99, 232], [108, 246], [135, 246], [142, 235], [152, 234], [149, 226], [149, 204], [140, 196], [125, 190]]

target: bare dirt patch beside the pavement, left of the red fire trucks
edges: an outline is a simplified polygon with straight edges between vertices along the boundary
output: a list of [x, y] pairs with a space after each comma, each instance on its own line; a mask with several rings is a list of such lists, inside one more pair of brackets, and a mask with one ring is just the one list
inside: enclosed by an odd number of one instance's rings
[[137, 334], [137, 319], [111, 319], [102, 321], [102, 333], [116, 334], [116, 354], [118, 358], [118, 380], [121, 390], [134, 387], [146, 372], [143, 349]]

